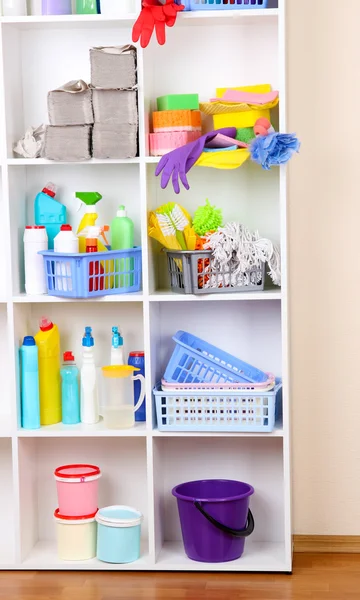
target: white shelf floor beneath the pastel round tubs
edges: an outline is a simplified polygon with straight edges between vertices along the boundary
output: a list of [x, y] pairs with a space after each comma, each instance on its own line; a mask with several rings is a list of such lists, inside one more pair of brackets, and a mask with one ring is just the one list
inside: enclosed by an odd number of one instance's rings
[[84, 561], [63, 561], [58, 557], [56, 542], [40, 541], [32, 549], [21, 567], [29, 570], [62, 570], [62, 571], [145, 571], [151, 568], [148, 544], [143, 542], [141, 557], [128, 565], [104, 563], [97, 558]]

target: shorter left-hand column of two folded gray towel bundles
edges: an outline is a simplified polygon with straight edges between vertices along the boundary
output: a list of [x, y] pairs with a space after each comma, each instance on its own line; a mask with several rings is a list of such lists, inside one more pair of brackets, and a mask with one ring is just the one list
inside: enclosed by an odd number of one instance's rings
[[85, 81], [70, 81], [49, 92], [48, 113], [50, 125], [45, 131], [45, 158], [89, 160], [94, 113], [92, 92]]

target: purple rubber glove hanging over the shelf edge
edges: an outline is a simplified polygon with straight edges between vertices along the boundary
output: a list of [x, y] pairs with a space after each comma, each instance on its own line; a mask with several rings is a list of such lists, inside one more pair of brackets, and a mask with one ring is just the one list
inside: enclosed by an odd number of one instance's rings
[[223, 135], [227, 135], [228, 137], [235, 139], [236, 128], [223, 127], [222, 129], [211, 131], [210, 133], [202, 135], [198, 140], [195, 140], [195, 142], [190, 142], [190, 144], [186, 144], [181, 148], [176, 148], [176, 150], [168, 152], [168, 154], [165, 154], [161, 158], [158, 166], [156, 167], [155, 175], [157, 177], [162, 172], [161, 187], [163, 190], [169, 183], [170, 177], [172, 178], [175, 194], [180, 194], [179, 178], [184, 188], [186, 190], [190, 189], [186, 174], [194, 166], [197, 159], [203, 152], [205, 144], [214, 139], [218, 133], [222, 133]]

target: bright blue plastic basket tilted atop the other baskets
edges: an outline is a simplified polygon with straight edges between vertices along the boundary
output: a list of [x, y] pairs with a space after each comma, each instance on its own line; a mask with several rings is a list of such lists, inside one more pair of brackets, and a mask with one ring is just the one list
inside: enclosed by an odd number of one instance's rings
[[178, 331], [166, 368], [169, 383], [264, 383], [267, 373], [244, 363], [186, 331]]

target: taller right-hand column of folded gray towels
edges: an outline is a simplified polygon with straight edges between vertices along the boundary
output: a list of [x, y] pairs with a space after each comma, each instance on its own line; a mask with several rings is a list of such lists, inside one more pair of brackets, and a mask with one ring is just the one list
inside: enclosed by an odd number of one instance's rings
[[134, 158], [138, 146], [136, 49], [90, 50], [93, 93], [93, 157]]

